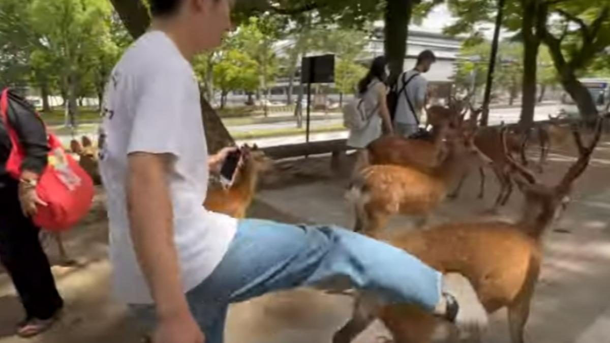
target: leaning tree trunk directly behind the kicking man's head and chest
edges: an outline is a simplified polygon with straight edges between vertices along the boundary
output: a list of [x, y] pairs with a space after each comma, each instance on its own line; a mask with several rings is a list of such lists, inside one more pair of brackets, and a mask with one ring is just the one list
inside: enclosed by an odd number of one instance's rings
[[[129, 34], [137, 39], [150, 25], [148, 10], [141, 0], [110, 0], [118, 15], [127, 27]], [[208, 151], [216, 152], [223, 146], [234, 145], [229, 131], [224, 127], [212, 106], [201, 97], [201, 114], [206, 129]]]

